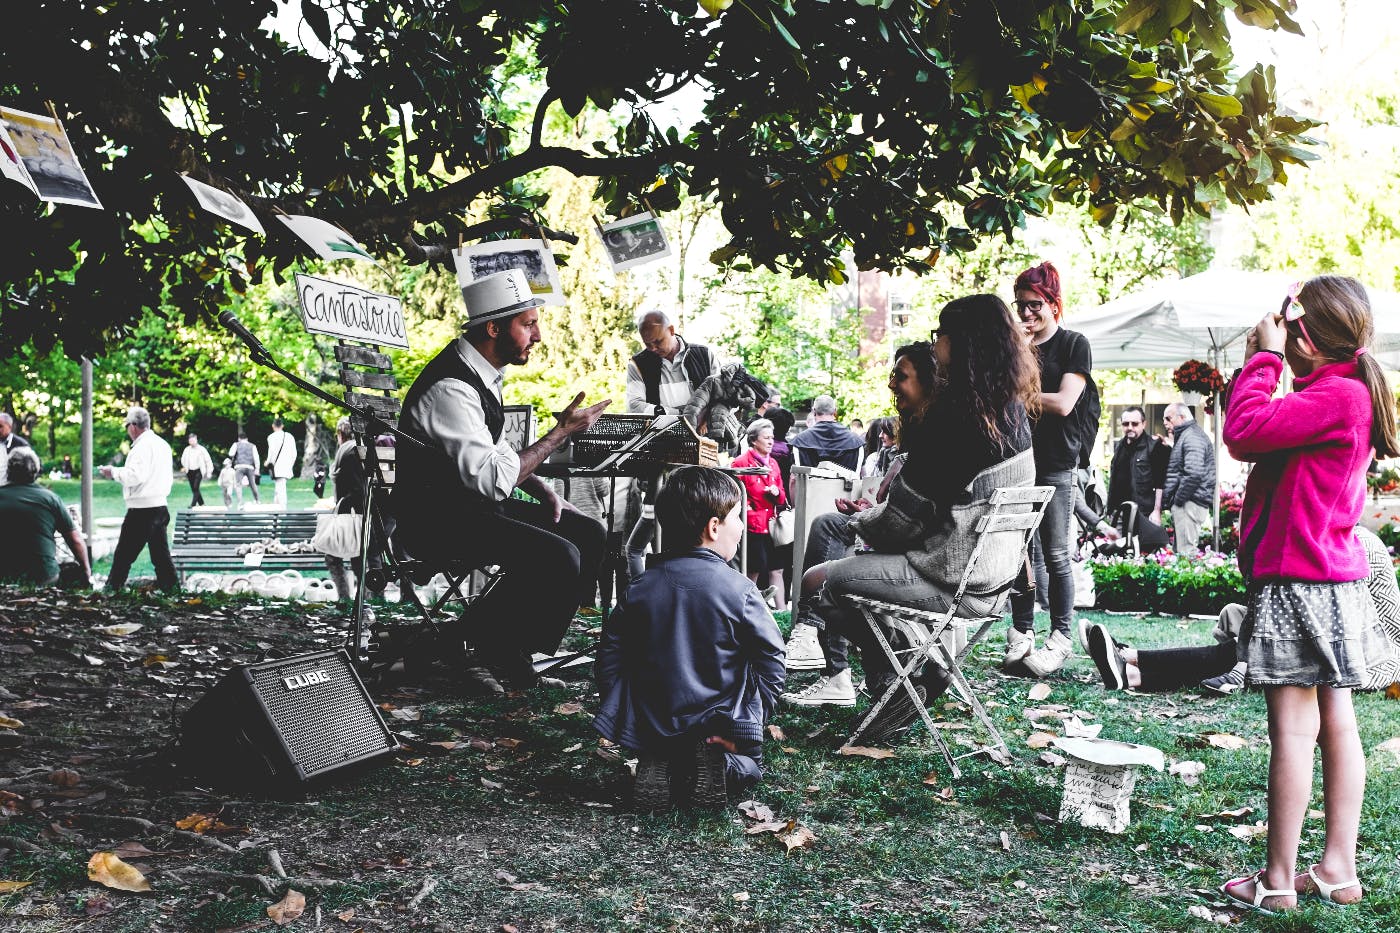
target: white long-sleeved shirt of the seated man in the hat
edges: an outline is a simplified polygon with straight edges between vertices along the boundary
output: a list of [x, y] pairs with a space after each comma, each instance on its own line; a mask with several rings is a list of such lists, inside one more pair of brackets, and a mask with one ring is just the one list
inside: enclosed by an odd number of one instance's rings
[[[454, 340], [458, 354], [501, 402], [501, 370], [487, 363], [465, 336]], [[521, 475], [521, 458], [503, 437], [491, 443], [486, 412], [476, 389], [462, 380], [441, 380], [403, 412], [403, 427], [441, 445], [456, 464], [462, 483], [482, 499], [510, 497]]]

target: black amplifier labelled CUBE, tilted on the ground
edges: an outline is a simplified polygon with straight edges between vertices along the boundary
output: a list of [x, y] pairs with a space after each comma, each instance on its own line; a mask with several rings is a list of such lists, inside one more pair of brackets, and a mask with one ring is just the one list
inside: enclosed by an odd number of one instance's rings
[[343, 650], [235, 667], [185, 713], [179, 745], [197, 775], [267, 792], [343, 778], [399, 748]]

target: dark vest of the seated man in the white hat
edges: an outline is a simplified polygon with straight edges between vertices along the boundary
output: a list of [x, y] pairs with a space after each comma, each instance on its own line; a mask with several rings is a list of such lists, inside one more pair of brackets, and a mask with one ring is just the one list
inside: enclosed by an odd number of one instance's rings
[[[482, 412], [486, 415], [486, 429], [491, 433], [491, 443], [500, 443], [501, 431], [505, 429], [505, 409], [496, 401], [496, 392], [486, 387], [476, 370], [468, 366], [466, 360], [456, 352], [455, 340], [433, 357], [419, 373], [419, 378], [413, 380], [407, 395], [403, 396], [403, 410], [410, 410], [424, 392], [442, 380], [461, 380], [476, 389], [476, 395], [482, 399]], [[463, 496], [469, 495], [456, 472], [456, 464], [441, 447], [431, 445], [431, 437], [423, 440], [430, 443], [427, 450], [414, 444], [403, 444], [398, 448], [393, 503], [395, 513], [399, 516], [451, 509], [461, 504]], [[472, 506], [484, 509], [494, 506], [494, 503], [476, 500], [477, 496], [470, 493]]]

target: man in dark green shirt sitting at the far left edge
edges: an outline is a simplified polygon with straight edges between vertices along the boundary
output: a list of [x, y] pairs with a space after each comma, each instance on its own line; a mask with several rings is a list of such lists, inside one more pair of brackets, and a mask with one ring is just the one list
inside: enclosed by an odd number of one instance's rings
[[15, 445], [4, 458], [10, 482], [0, 486], [0, 579], [52, 586], [59, 581], [53, 535], [63, 535], [77, 558], [83, 580], [90, 573], [83, 534], [73, 527], [69, 510], [52, 490], [36, 486], [39, 455], [28, 444]]

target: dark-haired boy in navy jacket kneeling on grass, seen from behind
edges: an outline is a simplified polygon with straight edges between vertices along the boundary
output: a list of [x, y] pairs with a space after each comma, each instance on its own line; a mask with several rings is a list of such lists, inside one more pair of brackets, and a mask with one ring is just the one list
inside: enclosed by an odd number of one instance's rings
[[664, 552], [619, 600], [598, 649], [594, 728], [637, 752], [638, 810], [715, 810], [750, 789], [783, 689], [783, 636], [728, 562], [743, 538], [739, 485], [683, 466], [657, 496]]

